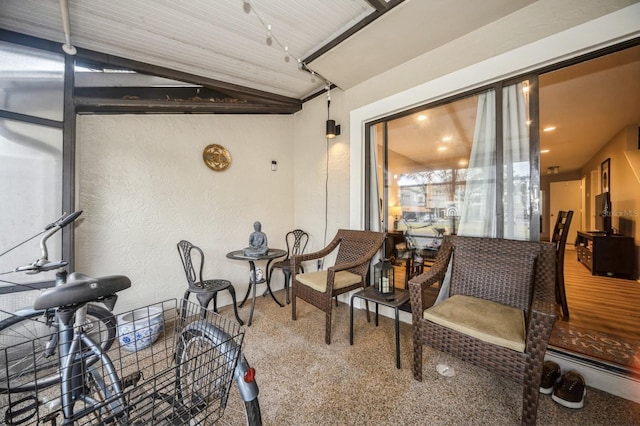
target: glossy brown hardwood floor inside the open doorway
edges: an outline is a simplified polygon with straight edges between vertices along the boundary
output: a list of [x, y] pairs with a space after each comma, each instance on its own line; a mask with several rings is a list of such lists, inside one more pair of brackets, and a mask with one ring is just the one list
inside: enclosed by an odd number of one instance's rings
[[567, 250], [564, 259], [568, 323], [640, 340], [640, 283], [591, 275], [578, 262], [575, 250]]

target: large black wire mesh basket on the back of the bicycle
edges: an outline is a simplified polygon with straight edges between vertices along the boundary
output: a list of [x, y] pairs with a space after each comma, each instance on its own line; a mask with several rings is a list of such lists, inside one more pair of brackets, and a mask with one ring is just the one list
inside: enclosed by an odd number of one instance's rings
[[[3, 349], [4, 423], [197, 425], [222, 416], [244, 339], [235, 321], [175, 299], [117, 320], [86, 323], [91, 340], [74, 341], [74, 357], [60, 354], [60, 341], [40, 357], [57, 334]], [[108, 343], [106, 357], [94, 355]]]

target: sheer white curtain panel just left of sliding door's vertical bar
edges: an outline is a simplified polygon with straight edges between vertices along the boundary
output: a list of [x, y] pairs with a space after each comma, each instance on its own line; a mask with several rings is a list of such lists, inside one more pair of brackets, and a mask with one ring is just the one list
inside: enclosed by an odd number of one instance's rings
[[496, 236], [495, 99], [493, 90], [478, 96], [476, 127], [458, 235]]

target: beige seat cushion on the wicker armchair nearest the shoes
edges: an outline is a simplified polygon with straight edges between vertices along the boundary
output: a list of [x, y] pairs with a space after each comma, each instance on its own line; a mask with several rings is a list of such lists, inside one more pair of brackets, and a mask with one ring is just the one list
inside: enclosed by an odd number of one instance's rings
[[471, 296], [454, 295], [429, 309], [426, 320], [482, 341], [524, 352], [524, 312]]

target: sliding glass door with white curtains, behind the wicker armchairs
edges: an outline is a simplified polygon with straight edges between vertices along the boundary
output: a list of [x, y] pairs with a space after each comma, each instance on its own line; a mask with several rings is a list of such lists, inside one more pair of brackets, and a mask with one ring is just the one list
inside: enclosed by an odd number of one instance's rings
[[427, 246], [446, 234], [537, 240], [530, 89], [495, 85], [372, 123], [371, 228]]

